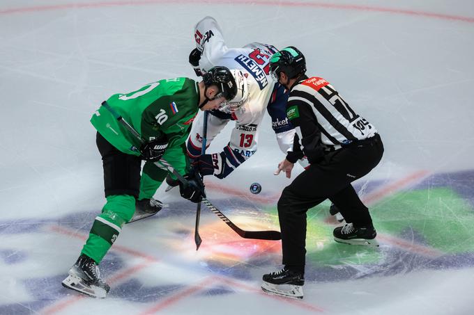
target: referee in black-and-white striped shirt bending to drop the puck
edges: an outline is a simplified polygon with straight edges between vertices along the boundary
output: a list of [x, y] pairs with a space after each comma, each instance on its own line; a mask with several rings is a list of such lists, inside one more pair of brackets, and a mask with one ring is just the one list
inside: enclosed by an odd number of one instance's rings
[[[346, 219], [344, 226], [334, 229], [335, 241], [378, 245], [369, 210], [351, 182], [379, 163], [383, 144], [374, 125], [355, 113], [328, 81], [305, 75], [305, 56], [296, 47], [274, 54], [270, 71], [290, 90], [286, 115], [296, 127], [293, 152], [275, 175], [284, 171], [290, 177], [293, 163], [303, 156], [310, 165], [278, 200], [284, 269], [263, 275], [262, 288], [283, 296], [296, 292], [292, 297], [303, 298], [308, 209], [329, 199]], [[296, 290], [284, 294], [281, 284], [293, 284]]]

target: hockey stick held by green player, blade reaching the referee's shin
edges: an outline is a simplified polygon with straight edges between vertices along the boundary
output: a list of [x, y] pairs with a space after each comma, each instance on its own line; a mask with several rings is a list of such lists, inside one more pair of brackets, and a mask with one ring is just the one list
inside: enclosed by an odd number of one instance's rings
[[[110, 107], [107, 102], [102, 102], [102, 106], [107, 108], [110, 113], [114, 116], [116, 120], [118, 120], [121, 124], [123, 124], [123, 127], [125, 127], [130, 133], [139, 140], [140, 143], [144, 143], [145, 140], [142, 139], [142, 136], [139, 135], [139, 133], [126, 121], [123, 119], [119, 113], [117, 113], [114, 108]], [[138, 150], [138, 149], [137, 149]], [[179, 174], [172, 166], [169, 164], [167, 161], [160, 159], [160, 161], [155, 162], [155, 165], [157, 165], [159, 168], [166, 169], [168, 172], [171, 172], [178, 178], [179, 181], [183, 184], [188, 184], [188, 180], [183, 177], [183, 175]], [[245, 231], [243, 229], [240, 229], [237, 225], [232, 223], [227, 216], [224, 216], [224, 213], [222, 213], [219, 209], [213, 206], [211, 202], [209, 202], [206, 198], [202, 199], [202, 202], [206, 204], [206, 207], [213, 211], [213, 213], [217, 214], [217, 216], [223, 220], [231, 229], [234, 230], [238, 235], [243, 237], [244, 239], [264, 239], [264, 240], [270, 240], [270, 241], [278, 241], [282, 239], [282, 234], [278, 231]]]

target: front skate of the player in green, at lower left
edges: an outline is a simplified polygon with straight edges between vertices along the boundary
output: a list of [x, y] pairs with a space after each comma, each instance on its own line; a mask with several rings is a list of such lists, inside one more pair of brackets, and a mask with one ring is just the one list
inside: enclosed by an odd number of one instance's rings
[[100, 279], [99, 267], [93, 259], [82, 254], [69, 270], [69, 275], [62, 282], [63, 286], [93, 296], [105, 298], [110, 286]]

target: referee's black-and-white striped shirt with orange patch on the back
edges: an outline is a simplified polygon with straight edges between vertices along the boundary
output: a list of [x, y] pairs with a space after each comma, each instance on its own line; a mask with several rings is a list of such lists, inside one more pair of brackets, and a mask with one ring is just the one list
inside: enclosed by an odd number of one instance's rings
[[[301, 139], [309, 162], [324, 152], [339, 150], [357, 140], [372, 138], [375, 127], [358, 115], [325, 79], [304, 77], [290, 90], [286, 115]], [[300, 151], [295, 139], [293, 151]]]

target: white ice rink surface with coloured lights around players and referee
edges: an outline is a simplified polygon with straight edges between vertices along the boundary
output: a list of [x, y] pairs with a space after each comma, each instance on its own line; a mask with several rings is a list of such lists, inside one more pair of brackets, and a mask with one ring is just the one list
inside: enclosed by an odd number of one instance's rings
[[[355, 187], [381, 247], [335, 243], [324, 202], [308, 211], [304, 300], [267, 296], [280, 242], [241, 239], [203, 209], [196, 251], [194, 204], [162, 187], [167, 207], [126, 225], [100, 265], [109, 296], [64, 289], [105, 202], [92, 113], [116, 92], [194, 78], [206, 15], [229, 47], [300, 48], [307, 73], [379, 129], [383, 160]], [[0, 314], [474, 314], [473, 56], [468, 0], [1, 1]], [[278, 229], [282, 158], [267, 115], [258, 152], [206, 178], [208, 199], [243, 229]]]

